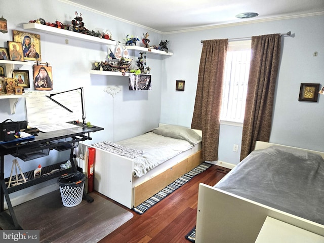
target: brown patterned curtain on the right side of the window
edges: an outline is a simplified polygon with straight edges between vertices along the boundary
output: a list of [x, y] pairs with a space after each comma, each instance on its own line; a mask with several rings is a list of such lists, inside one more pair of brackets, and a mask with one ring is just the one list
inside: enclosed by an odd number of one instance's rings
[[257, 140], [269, 142], [280, 46], [280, 34], [252, 37], [240, 160], [254, 149]]

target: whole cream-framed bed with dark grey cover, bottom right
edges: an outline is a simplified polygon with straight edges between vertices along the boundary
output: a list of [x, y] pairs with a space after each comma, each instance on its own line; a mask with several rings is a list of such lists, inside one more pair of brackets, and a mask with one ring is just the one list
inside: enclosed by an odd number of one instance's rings
[[199, 184], [195, 242], [324, 242], [323, 205], [324, 152], [258, 141], [215, 186]]

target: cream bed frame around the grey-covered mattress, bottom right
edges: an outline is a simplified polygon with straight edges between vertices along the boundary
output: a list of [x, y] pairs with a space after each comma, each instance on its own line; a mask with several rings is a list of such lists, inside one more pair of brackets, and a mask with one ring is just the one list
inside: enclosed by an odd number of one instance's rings
[[[272, 145], [278, 144], [258, 141], [255, 150], [264, 149]], [[324, 152], [307, 149], [300, 150], [318, 153], [324, 158]], [[265, 223], [265, 220], [267, 219], [268, 221], [269, 218], [282, 221], [285, 225], [289, 225], [290, 227], [297, 226], [297, 229], [306, 230], [305, 232], [309, 231], [309, 234], [320, 238], [320, 241], [311, 240], [307, 242], [324, 242], [324, 237], [322, 237], [324, 236], [324, 225], [276, 210], [203, 183], [199, 184], [198, 190], [196, 243], [265, 242], [256, 241], [256, 239], [261, 237], [258, 236], [261, 229], [263, 229], [262, 232], [265, 231], [264, 229], [268, 225], [268, 223]], [[270, 232], [272, 237], [276, 236], [275, 233], [279, 234], [279, 230]], [[285, 233], [288, 234], [288, 232]], [[296, 234], [296, 232], [293, 234]], [[290, 236], [290, 238], [292, 237]], [[299, 241], [269, 240], [266, 242]]]

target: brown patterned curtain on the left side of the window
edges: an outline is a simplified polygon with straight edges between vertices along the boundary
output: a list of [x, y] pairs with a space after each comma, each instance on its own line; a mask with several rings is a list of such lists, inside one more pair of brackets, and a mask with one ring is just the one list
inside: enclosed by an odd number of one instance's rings
[[218, 160], [223, 73], [228, 39], [204, 41], [191, 128], [203, 133], [203, 159]]

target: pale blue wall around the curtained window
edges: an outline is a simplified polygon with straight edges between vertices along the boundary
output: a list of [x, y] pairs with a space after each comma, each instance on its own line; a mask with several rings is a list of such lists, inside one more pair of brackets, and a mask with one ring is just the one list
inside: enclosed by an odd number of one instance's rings
[[[161, 123], [190, 127], [193, 114], [201, 39], [240, 38], [270, 33], [292, 32], [282, 37], [280, 68], [277, 78], [270, 142], [324, 151], [324, 95], [318, 102], [298, 101], [301, 83], [324, 85], [324, 15], [308, 16], [181, 33], [169, 33], [174, 57], [165, 62], [166, 83], [161, 87]], [[314, 52], [317, 57], [313, 57]], [[185, 91], [175, 91], [177, 79], [185, 80]], [[175, 105], [176, 104], [176, 105]], [[221, 125], [219, 161], [238, 164], [242, 128]]]

